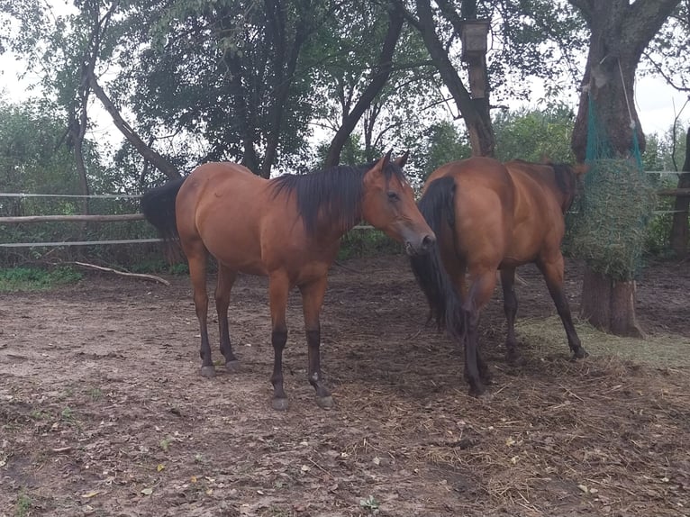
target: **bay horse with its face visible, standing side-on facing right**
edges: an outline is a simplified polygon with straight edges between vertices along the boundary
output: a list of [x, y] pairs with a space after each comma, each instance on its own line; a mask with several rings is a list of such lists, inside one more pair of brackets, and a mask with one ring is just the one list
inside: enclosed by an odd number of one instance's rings
[[232, 285], [239, 272], [268, 277], [271, 343], [274, 349], [273, 407], [287, 409], [283, 387], [288, 292], [299, 288], [308, 347], [308, 379], [316, 402], [332, 405], [322, 382], [319, 313], [328, 270], [340, 237], [364, 219], [404, 243], [407, 254], [431, 249], [435, 236], [414, 202], [402, 167], [386, 156], [362, 167], [335, 167], [312, 174], [264, 179], [235, 163], [206, 163], [187, 177], [142, 196], [141, 211], [164, 241], [186, 255], [201, 330], [202, 376], [212, 377], [206, 317], [206, 262], [218, 262], [215, 306], [221, 352], [228, 371], [238, 369], [228, 326]]

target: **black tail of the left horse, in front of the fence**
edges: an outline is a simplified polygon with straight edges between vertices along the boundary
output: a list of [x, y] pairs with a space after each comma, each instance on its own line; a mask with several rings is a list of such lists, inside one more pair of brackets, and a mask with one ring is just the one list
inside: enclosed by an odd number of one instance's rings
[[141, 213], [159, 231], [168, 258], [178, 254], [175, 199], [186, 177], [178, 177], [141, 196]]

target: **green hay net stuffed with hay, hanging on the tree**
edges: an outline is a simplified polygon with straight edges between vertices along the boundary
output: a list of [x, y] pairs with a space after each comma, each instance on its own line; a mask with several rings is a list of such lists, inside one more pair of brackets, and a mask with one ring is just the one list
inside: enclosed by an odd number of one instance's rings
[[586, 163], [590, 169], [581, 195], [567, 214], [565, 247], [596, 273], [629, 281], [640, 273], [656, 195], [642, 169], [634, 122], [630, 156], [618, 158], [604, 125], [597, 122], [591, 95], [588, 111]]

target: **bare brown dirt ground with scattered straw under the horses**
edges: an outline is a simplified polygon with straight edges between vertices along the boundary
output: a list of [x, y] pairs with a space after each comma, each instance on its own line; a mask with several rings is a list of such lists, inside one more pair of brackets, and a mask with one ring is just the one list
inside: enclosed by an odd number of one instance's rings
[[[520, 275], [518, 318], [555, 313], [536, 271]], [[575, 309], [577, 265], [567, 277]], [[495, 296], [481, 323], [495, 383], [471, 398], [404, 257], [354, 259], [322, 313], [335, 407], [306, 382], [295, 294], [277, 413], [266, 280], [233, 290], [241, 372], [206, 379], [188, 279], [168, 279], [0, 295], [0, 516], [690, 515], [688, 363], [573, 363], [558, 332], [553, 353], [522, 343], [509, 367]], [[686, 346], [690, 264], [639, 286], [644, 329]]]

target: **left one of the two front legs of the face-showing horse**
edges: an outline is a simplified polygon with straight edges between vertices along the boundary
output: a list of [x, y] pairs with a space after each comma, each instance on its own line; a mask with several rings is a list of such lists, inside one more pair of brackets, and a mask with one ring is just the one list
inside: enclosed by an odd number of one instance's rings
[[271, 309], [271, 344], [273, 345], [273, 409], [287, 409], [287, 395], [283, 385], [283, 350], [287, 341], [286, 307], [290, 283], [286, 275], [272, 274], [268, 280], [268, 297]]

